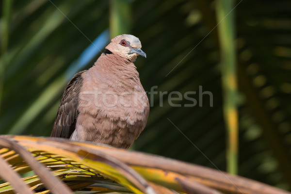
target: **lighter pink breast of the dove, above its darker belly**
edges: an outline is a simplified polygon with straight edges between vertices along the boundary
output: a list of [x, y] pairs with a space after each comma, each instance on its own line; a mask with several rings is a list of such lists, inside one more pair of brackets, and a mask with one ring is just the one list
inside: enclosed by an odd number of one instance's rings
[[134, 125], [147, 119], [149, 103], [140, 81], [85, 77], [79, 95], [79, 111], [95, 118], [126, 121]]

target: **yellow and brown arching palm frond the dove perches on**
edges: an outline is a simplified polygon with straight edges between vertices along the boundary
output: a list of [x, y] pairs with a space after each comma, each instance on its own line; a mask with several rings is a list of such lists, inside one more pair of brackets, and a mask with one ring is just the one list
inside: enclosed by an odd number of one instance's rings
[[[9, 182], [0, 185], [1, 194], [19, 193], [24, 186], [38, 194], [290, 194], [210, 168], [105, 145], [5, 135], [0, 146], [0, 164], [7, 168], [0, 176]], [[18, 178], [11, 179], [8, 171]], [[25, 176], [30, 171], [35, 175]]]

